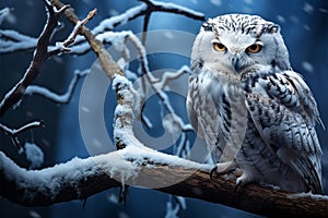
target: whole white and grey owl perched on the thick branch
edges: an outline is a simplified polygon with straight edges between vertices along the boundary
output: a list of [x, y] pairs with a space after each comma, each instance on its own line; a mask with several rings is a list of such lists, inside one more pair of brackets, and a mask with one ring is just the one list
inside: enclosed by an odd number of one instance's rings
[[195, 40], [191, 72], [189, 119], [224, 162], [218, 171], [241, 168], [237, 186], [323, 193], [317, 105], [291, 69], [277, 24], [246, 14], [210, 19]]

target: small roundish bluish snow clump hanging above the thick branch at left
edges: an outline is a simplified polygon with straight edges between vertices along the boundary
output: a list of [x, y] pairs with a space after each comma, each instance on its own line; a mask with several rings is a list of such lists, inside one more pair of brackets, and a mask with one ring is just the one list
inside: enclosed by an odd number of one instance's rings
[[26, 159], [31, 162], [30, 169], [35, 169], [44, 164], [44, 153], [35, 144], [26, 142], [24, 145]]

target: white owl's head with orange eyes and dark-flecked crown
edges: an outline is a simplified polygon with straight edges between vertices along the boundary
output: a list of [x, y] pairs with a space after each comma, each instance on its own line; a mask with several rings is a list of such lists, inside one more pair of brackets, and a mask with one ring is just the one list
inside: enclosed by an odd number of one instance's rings
[[255, 64], [291, 69], [279, 25], [248, 14], [222, 15], [202, 25], [192, 47], [194, 72], [207, 68], [237, 74]]

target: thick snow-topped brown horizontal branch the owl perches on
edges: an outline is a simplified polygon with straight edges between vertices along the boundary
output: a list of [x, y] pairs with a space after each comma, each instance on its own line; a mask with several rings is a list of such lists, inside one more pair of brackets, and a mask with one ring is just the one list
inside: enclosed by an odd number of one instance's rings
[[[293, 194], [256, 184], [234, 192], [234, 180], [224, 175], [211, 180], [208, 172], [199, 170], [200, 165], [145, 148], [140, 152], [126, 148], [37, 171], [26, 171], [0, 153], [0, 195], [25, 206], [47, 206], [84, 199], [120, 186], [122, 181], [270, 217], [328, 215], [327, 196]], [[132, 158], [136, 153], [142, 157]]]

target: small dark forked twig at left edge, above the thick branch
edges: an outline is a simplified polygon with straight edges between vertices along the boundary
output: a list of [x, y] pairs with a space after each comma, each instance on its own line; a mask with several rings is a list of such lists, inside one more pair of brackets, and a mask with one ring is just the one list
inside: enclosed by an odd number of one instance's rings
[[16, 148], [21, 148], [20, 142], [17, 140], [19, 134], [34, 128], [44, 128], [44, 126], [45, 125], [43, 121], [34, 121], [21, 126], [20, 129], [11, 129], [0, 123], [0, 130], [2, 130], [5, 134], [9, 134], [11, 136], [12, 142]]

